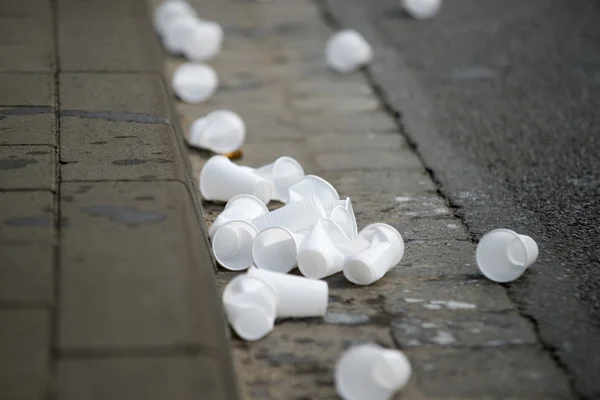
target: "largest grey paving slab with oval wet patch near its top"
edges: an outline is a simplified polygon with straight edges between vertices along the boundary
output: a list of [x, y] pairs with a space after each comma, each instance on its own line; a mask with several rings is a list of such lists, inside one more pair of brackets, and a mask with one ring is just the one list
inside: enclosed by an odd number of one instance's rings
[[226, 349], [213, 264], [179, 182], [63, 183], [59, 347]]

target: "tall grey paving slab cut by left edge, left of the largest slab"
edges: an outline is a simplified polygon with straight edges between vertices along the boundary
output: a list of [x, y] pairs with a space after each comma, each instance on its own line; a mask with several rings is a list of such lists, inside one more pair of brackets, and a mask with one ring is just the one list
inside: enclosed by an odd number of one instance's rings
[[52, 300], [52, 202], [50, 192], [0, 193], [0, 304]]

